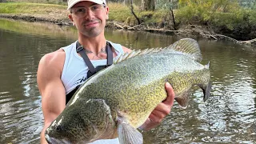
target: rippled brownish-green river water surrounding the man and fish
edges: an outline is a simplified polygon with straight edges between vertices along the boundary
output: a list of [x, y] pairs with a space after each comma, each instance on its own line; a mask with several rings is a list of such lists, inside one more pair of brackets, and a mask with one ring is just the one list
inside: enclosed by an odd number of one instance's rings
[[[76, 38], [72, 26], [0, 19], [0, 143], [39, 143], [38, 62]], [[106, 38], [142, 50], [186, 37], [106, 30]], [[213, 96], [203, 102], [195, 86], [185, 110], [174, 102], [160, 126], [143, 132], [145, 143], [256, 143], [256, 47], [195, 39], [202, 64], [210, 62]]]

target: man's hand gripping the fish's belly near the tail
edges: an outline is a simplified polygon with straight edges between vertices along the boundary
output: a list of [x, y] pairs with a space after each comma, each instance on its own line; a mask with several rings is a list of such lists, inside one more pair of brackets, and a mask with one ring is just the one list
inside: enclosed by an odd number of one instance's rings
[[166, 92], [167, 98], [158, 104], [158, 106], [150, 114], [149, 118], [147, 118], [146, 122], [140, 126], [142, 130], [150, 130], [155, 126], [158, 126], [158, 124], [162, 122], [162, 119], [170, 113], [171, 107], [174, 105], [175, 94], [169, 82], [166, 82]]

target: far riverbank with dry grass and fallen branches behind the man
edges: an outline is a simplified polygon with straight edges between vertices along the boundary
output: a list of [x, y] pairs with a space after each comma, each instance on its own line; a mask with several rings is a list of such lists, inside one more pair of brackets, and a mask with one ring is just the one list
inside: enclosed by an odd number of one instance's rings
[[[0, 3], [0, 8], [6, 6], [5, 11], [0, 10], [0, 18], [12, 18], [20, 19], [27, 22], [51, 22], [60, 26], [70, 26], [72, 23], [68, 18], [69, 12], [66, 10], [66, 6], [50, 5], [50, 4], [35, 4], [35, 3]], [[8, 7], [12, 6], [13, 9], [19, 7], [16, 14], [7, 14]], [[129, 14], [129, 8], [127, 6], [119, 6], [118, 4], [110, 3], [110, 18], [106, 22], [106, 27], [112, 29], [122, 29], [122, 30], [141, 30], [149, 31], [153, 33], [164, 33], [164, 34], [175, 34], [189, 37], [201, 37], [209, 39], [225, 39], [236, 43], [248, 44], [256, 46], [256, 38], [247, 41], [239, 41], [235, 38], [228, 37], [223, 34], [217, 34], [213, 28], [204, 25], [179, 25], [178, 30], [173, 30], [171, 26], [162, 26], [163, 22], [161, 18], [152, 18], [152, 22], [148, 21], [142, 22], [140, 25], [136, 25], [136, 22], [132, 14]], [[111, 11], [112, 10], [112, 11]], [[127, 15], [126, 19], [123, 15]], [[161, 15], [162, 12], [158, 12]], [[150, 16], [151, 13], [141, 14], [141, 18]], [[152, 16], [151, 17], [155, 17]], [[144, 18], [145, 19], [145, 18]]]

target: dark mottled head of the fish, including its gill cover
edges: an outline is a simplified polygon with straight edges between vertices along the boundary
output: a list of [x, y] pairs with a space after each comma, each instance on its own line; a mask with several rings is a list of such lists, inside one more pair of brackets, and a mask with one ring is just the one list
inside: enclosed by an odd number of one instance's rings
[[114, 121], [105, 102], [92, 101], [71, 105], [46, 129], [48, 143], [89, 143], [105, 135]]

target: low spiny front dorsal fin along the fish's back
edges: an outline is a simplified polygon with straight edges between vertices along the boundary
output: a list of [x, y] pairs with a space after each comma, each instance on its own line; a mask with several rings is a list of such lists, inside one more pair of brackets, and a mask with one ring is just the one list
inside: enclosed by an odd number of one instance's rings
[[151, 48], [151, 49], [145, 49], [145, 50], [132, 50], [130, 53], [125, 53], [119, 55], [117, 58], [114, 60], [114, 64], [118, 62], [122, 62], [126, 59], [136, 57], [137, 55], [142, 55], [142, 54], [150, 54], [150, 53], [155, 53], [162, 50], [162, 48]]

